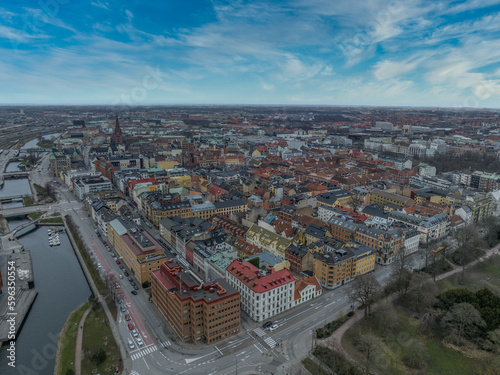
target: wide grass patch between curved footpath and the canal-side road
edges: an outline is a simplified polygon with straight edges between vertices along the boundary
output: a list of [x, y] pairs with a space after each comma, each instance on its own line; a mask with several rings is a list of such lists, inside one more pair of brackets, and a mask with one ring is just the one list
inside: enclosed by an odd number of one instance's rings
[[[100, 365], [92, 362], [92, 356], [100, 348], [106, 353], [106, 360]], [[120, 366], [120, 350], [116, 345], [108, 319], [104, 310], [91, 310], [83, 327], [82, 350], [85, 357], [82, 359], [82, 374], [114, 374], [115, 366]], [[121, 366], [120, 366], [121, 368]]]

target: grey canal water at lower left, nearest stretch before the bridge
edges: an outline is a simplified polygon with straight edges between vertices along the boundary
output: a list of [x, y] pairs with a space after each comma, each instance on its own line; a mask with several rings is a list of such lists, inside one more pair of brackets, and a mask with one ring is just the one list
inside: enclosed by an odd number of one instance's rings
[[[15, 228], [26, 222], [18, 219], [8, 223]], [[7, 365], [6, 347], [0, 349], [2, 375], [52, 375], [59, 333], [69, 314], [91, 294], [67, 235], [60, 233], [61, 245], [50, 247], [47, 229], [39, 227], [19, 238], [31, 251], [38, 296], [16, 340], [15, 369]]]

